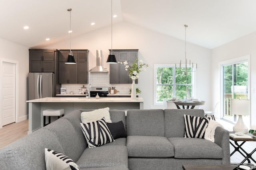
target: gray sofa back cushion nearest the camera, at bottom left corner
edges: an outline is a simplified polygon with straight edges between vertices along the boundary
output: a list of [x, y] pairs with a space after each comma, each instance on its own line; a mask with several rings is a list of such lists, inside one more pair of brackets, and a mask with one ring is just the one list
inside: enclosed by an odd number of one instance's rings
[[57, 137], [47, 129], [38, 129], [22, 139], [0, 149], [0, 169], [38, 170], [46, 169], [44, 149], [64, 152]]

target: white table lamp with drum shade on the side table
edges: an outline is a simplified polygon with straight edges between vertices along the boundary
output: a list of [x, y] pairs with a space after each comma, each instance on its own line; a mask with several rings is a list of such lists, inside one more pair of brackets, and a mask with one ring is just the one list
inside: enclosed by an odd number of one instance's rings
[[231, 99], [231, 113], [239, 115], [236, 125], [233, 127], [234, 132], [248, 133], [248, 128], [244, 125], [242, 115], [250, 115], [250, 100], [246, 99]]

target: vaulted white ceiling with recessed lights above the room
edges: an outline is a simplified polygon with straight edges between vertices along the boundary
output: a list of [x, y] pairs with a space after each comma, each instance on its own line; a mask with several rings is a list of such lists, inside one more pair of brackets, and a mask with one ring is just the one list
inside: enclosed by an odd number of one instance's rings
[[[43, 48], [111, 24], [111, 0], [0, 0], [0, 38]], [[112, 0], [127, 22], [212, 49], [256, 31], [256, 0]], [[90, 25], [92, 22], [95, 25]], [[25, 25], [29, 29], [23, 29]], [[46, 41], [50, 38], [50, 41]]]

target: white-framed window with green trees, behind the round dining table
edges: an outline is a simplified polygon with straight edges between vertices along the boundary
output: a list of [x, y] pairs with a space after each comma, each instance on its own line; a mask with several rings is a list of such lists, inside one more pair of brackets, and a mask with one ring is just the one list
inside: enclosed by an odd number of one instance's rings
[[175, 64], [154, 64], [154, 105], [162, 105], [164, 98], [192, 97], [194, 74], [185, 75], [179, 67], [175, 69]]

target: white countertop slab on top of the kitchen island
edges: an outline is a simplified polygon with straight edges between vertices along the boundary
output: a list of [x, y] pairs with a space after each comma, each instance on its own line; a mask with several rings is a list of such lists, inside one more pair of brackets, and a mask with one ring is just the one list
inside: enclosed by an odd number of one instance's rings
[[99, 103], [109, 103], [109, 102], [116, 102], [116, 103], [125, 103], [125, 102], [134, 102], [134, 103], [138, 103], [138, 102], [144, 102], [143, 98], [136, 98], [135, 100], [132, 100], [131, 98], [90, 98], [88, 99], [88, 97], [78, 97], [78, 98], [74, 98], [74, 97], [55, 97], [55, 98], [40, 98], [40, 99], [34, 99], [34, 100], [28, 100], [26, 102], [35, 102], [35, 103], [40, 103], [40, 102], [99, 102]]

